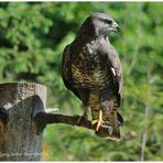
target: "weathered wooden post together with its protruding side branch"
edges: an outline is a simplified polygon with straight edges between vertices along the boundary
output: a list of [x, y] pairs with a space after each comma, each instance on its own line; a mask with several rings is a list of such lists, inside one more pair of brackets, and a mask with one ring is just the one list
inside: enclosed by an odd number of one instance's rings
[[[88, 119], [45, 112], [46, 87], [33, 83], [0, 84], [0, 161], [40, 161], [46, 124], [66, 123], [96, 130]], [[120, 140], [109, 126], [98, 137]]]

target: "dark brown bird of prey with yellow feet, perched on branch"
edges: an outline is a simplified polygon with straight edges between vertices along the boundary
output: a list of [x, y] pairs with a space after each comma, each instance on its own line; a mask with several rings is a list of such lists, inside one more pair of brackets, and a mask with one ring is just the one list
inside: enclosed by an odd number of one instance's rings
[[68, 44], [62, 58], [62, 77], [67, 89], [83, 102], [83, 117], [91, 110], [96, 131], [102, 124], [113, 129], [122, 126], [119, 112], [122, 96], [122, 68], [119, 55], [108, 35], [119, 25], [105, 13], [91, 13]]

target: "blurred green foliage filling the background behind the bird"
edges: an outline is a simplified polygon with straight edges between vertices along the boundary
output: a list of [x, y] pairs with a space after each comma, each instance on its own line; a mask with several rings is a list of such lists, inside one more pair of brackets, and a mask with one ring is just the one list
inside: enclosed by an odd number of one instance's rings
[[65, 45], [91, 12], [111, 14], [121, 28], [121, 33], [110, 35], [110, 42], [120, 55], [124, 74], [122, 140], [102, 140], [87, 129], [53, 124], [44, 131], [43, 160], [163, 160], [162, 9], [159, 2], [0, 3], [1, 83], [46, 85], [47, 106], [68, 115], [82, 113], [82, 105], [61, 78]]

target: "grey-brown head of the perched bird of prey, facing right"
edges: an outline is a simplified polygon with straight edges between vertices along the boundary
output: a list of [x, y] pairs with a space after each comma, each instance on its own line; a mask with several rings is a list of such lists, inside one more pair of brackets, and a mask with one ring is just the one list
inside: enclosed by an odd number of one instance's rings
[[119, 25], [105, 13], [91, 13], [80, 29], [90, 37], [107, 36], [110, 32], [119, 32]]

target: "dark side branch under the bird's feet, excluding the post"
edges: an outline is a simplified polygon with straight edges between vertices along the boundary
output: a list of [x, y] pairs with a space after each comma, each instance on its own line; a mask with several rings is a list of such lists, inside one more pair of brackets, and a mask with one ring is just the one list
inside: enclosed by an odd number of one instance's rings
[[[70, 126], [84, 127], [90, 130], [96, 130], [96, 126], [93, 126], [91, 122], [82, 118], [80, 122], [77, 123], [80, 116], [65, 116], [61, 113], [47, 113], [47, 112], [39, 112], [35, 115], [34, 120], [37, 127], [37, 133], [42, 132], [46, 124], [52, 123], [66, 123]], [[96, 134], [101, 138], [108, 138], [113, 140], [120, 140], [120, 132], [113, 130], [112, 127], [109, 126], [100, 126], [99, 130], [96, 131]]]

